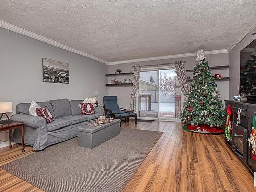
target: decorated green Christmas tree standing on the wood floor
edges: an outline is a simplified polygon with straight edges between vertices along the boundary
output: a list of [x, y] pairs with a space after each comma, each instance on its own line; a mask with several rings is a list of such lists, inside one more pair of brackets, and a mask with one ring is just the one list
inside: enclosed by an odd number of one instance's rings
[[[201, 50], [202, 51], [202, 50]], [[199, 59], [198, 59], [199, 58]], [[219, 99], [215, 78], [211, 75], [209, 63], [203, 55], [198, 57], [194, 68], [190, 91], [185, 95], [181, 120], [191, 125], [207, 124], [210, 127], [224, 123], [224, 109]]]

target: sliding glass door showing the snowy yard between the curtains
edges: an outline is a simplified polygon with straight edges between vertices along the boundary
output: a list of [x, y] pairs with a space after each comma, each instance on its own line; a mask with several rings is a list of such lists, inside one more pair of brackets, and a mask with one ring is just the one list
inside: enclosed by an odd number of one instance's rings
[[180, 118], [181, 90], [175, 69], [142, 69], [138, 93], [140, 119]]

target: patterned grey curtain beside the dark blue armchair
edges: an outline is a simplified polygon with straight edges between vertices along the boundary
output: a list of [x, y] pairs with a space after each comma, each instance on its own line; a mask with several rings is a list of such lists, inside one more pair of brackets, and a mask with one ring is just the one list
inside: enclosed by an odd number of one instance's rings
[[139, 81], [140, 81], [140, 71], [141, 66], [135, 65], [134, 66], [134, 75], [133, 75], [133, 88], [131, 93], [131, 103], [130, 109], [136, 111], [136, 92], [139, 88]]

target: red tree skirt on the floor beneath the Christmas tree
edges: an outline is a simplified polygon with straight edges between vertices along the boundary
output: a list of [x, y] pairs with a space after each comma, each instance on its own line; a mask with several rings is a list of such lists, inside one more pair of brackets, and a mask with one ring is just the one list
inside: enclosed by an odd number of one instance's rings
[[[198, 129], [200, 128], [200, 129]], [[223, 134], [224, 130], [220, 127], [210, 127], [209, 125], [203, 125], [203, 124], [199, 124], [199, 125], [194, 125], [192, 126], [191, 124], [187, 124], [183, 126], [183, 129], [189, 132], [196, 132], [196, 133], [207, 133], [207, 134], [214, 134], [214, 135], [219, 135], [219, 134]]]

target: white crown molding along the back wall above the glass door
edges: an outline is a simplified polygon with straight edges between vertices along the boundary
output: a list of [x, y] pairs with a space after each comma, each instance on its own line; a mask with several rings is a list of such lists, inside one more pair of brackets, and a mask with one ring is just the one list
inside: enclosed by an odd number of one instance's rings
[[[212, 55], [212, 54], [220, 54], [220, 53], [228, 53], [228, 51], [226, 49], [204, 51], [204, 55]], [[197, 53], [194, 52], [194, 53], [185, 53], [185, 54], [178, 54], [178, 55], [166, 55], [166, 56], [160, 56], [160, 57], [147, 57], [147, 58], [141, 58], [141, 59], [114, 61], [114, 62], [109, 62], [108, 65], [118, 65], [118, 64], [124, 64], [124, 63], [173, 59], [173, 58], [182, 58], [182, 57], [193, 57], [193, 56], [197, 56]]]

